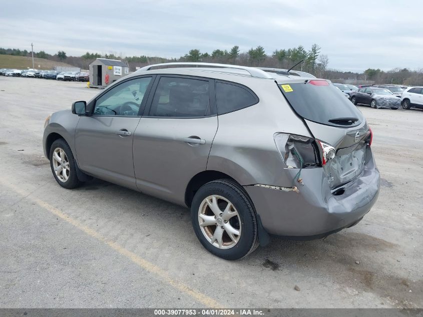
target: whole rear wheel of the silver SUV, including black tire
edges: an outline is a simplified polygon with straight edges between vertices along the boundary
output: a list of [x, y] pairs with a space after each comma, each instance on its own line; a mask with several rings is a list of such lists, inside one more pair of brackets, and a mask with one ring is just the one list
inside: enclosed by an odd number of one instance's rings
[[[200, 226], [200, 219], [202, 224], [209, 222], [210, 225]], [[201, 244], [223, 259], [240, 259], [259, 245], [254, 206], [244, 189], [234, 181], [221, 179], [200, 187], [191, 204], [191, 221]]]

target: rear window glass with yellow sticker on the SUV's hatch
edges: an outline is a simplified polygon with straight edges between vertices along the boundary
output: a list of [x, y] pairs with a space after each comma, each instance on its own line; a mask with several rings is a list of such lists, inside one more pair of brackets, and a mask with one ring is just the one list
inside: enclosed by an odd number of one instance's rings
[[304, 119], [330, 126], [356, 126], [363, 121], [361, 112], [333, 85], [278, 86], [294, 111]]

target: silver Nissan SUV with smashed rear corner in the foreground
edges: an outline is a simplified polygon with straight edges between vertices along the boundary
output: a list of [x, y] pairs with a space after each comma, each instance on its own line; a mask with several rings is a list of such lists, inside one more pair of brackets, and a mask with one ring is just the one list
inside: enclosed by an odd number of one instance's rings
[[330, 82], [203, 63], [144, 67], [46, 121], [56, 181], [97, 177], [191, 209], [203, 246], [239, 259], [269, 236], [320, 238], [375, 203], [372, 132]]

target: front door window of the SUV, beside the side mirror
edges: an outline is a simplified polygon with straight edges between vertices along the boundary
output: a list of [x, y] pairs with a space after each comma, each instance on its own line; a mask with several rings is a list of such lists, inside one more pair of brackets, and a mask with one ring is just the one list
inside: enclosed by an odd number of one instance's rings
[[137, 78], [113, 87], [96, 101], [93, 115], [138, 116], [151, 77]]

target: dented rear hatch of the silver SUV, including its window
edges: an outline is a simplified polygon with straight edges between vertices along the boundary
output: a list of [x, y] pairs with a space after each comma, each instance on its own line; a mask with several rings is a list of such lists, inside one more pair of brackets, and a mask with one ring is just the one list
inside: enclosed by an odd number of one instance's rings
[[[371, 132], [361, 112], [325, 80], [278, 84], [294, 112], [303, 119], [320, 150], [320, 164], [331, 189], [354, 180], [363, 170]], [[323, 148], [335, 157], [325, 160]]]

